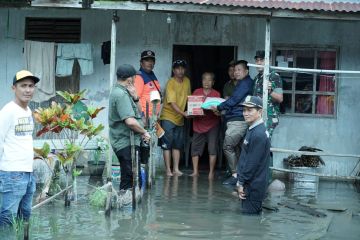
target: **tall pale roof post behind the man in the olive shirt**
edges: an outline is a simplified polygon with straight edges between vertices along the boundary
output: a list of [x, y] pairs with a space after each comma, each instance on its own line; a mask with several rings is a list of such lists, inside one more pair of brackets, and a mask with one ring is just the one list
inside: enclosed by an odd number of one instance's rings
[[[115, 64], [116, 64], [116, 23], [119, 21], [117, 11], [113, 12], [113, 18], [111, 22], [111, 52], [110, 52], [110, 82], [109, 89], [112, 88], [115, 82]], [[110, 135], [110, 134], [109, 134]], [[112, 165], [113, 152], [109, 149], [108, 152], [108, 165], [106, 169], [107, 181], [111, 181], [111, 165]]]

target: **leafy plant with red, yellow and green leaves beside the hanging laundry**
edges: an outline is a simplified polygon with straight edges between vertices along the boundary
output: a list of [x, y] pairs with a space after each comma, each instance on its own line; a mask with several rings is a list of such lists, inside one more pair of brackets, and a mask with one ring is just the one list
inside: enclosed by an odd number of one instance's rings
[[[42, 125], [36, 136], [55, 133], [59, 140], [55, 143], [51, 138], [55, 155], [66, 173], [66, 186], [73, 183], [74, 197], [76, 198], [76, 176], [81, 171], [76, 169], [76, 160], [79, 154], [95, 136], [104, 129], [102, 124], [94, 124], [93, 119], [104, 107], [88, 106], [84, 103], [86, 89], [79, 93], [57, 91], [64, 100], [63, 104], [52, 102], [48, 108], [37, 108], [34, 111], [35, 120]], [[60, 137], [61, 136], [61, 137]], [[69, 204], [70, 202], [65, 204]]]

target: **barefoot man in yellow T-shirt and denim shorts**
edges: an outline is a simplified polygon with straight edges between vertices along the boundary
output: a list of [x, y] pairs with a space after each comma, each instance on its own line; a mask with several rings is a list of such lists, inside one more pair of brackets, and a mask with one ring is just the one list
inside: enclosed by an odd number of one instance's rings
[[[164, 105], [160, 115], [161, 127], [165, 135], [159, 140], [163, 149], [166, 174], [181, 176], [179, 170], [180, 149], [184, 144], [184, 118], [188, 116], [185, 111], [187, 97], [191, 94], [190, 80], [185, 76], [186, 62], [176, 60], [172, 64], [173, 77], [166, 85]], [[173, 159], [173, 170], [171, 171], [170, 159]]]

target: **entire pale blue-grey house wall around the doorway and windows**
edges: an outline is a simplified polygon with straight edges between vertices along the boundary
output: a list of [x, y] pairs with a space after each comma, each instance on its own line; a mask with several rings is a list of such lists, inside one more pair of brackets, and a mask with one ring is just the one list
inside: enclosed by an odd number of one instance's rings
[[[173, 44], [231, 45], [238, 47], [238, 58], [253, 61], [256, 49], [264, 48], [265, 20], [255, 17], [216, 16], [202, 14], [118, 11], [116, 65], [130, 63], [139, 66], [142, 50], [156, 53], [155, 73], [165, 83], [171, 73]], [[72, 9], [0, 9], [0, 79], [11, 86], [14, 73], [23, 67], [23, 39], [25, 17], [80, 17], [81, 41], [93, 45], [94, 74], [81, 76], [81, 88], [89, 89], [94, 105], [107, 106], [109, 95], [109, 65], [101, 60], [101, 44], [110, 40], [112, 11]], [[272, 44], [292, 43], [339, 46], [339, 69], [358, 70], [360, 33], [358, 22], [306, 21], [301, 19], [273, 19]], [[256, 70], [251, 69], [255, 76]], [[352, 75], [350, 75], [352, 76]], [[357, 124], [360, 109], [357, 94], [358, 78], [339, 80], [336, 118], [281, 117], [273, 136], [273, 146], [298, 149], [302, 145], [315, 146], [333, 153], [360, 154]], [[344, 77], [349, 77], [346, 75]], [[358, 77], [358, 76], [356, 76]], [[3, 91], [0, 105], [12, 98], [11, 91]], [[99, 116], [107, 125], [107, 109]], [[275, 154], [275, 166], [281, 166], [283, 154]], [[347, 174], [356, 159], [325, 158], [325, 172]]]

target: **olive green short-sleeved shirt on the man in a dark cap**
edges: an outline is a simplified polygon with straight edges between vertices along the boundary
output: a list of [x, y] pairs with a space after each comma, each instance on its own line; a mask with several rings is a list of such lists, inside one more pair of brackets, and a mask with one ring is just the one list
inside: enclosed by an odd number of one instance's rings
[[[124, 86], [116, 83], [109, 96], [109, 135], [115, 152], [130, 146], [131, 129], [125, 124], [125, 120], [130, 117], [135, 118], [143, 126], [141, 115], [130, 93]], [[135, 133], [134, 136], [135, 145], [140, 146], [141, 135]]]

